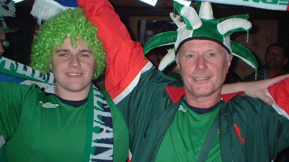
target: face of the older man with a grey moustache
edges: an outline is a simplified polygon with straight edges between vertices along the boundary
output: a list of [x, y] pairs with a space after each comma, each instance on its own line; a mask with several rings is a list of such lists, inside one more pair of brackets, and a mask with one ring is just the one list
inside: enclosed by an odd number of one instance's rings
[[179, 62], [186, 96], [205, 97], [220, 93], [229, 66], [227, 51], [218, 43], [210, 40], [190, 40], [179, 51]]

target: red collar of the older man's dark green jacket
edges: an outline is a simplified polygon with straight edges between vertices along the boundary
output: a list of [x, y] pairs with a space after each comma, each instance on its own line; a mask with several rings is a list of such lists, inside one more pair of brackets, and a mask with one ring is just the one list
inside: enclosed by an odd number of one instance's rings
[[[185, 89], [184, 87], [166, 87], [166, 91], [168, 93], [168, 96], [172, 99], [174, 103], [179, 102], [179, 100], [184, 96], [185, 94]], [[229, 94], [222, 94], [221, 97], [223, 98], [224, 102], [228, 102], [230, 99], [232, 99], [234, 96], [240, 97], [242, 96], [244, 91], [239, 91], [235, 93], [229, 93]]]

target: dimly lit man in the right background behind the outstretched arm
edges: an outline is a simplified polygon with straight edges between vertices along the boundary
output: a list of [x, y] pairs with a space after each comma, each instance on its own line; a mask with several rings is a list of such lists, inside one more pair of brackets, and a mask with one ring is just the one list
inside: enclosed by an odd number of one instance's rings
[[245, 76], [243, 81], [254, 81], [274, 78], [289, 73], [288, 48], [280, 43], [273, 43], [268, 46], [265, 55], [265, 65], [258, 68], [257, 78], [255, 72]]

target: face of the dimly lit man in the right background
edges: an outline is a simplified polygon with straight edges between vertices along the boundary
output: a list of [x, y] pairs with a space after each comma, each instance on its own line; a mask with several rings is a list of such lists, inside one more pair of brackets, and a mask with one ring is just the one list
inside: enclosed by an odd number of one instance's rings
[[266, 66], [268, 68], [279, 69], [287, 63], [285, 51], [279, 46], [272, 46], [266, 52]]

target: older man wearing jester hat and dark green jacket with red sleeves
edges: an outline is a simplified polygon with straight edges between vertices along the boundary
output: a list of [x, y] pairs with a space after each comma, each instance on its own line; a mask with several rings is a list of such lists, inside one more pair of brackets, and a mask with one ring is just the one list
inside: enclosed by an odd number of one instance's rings
[[251, 28], [248, 15], [215, 19], [209, 2], [198, 14], [174, 2], [178, 30], [156, 35], [144, 53], [174, 44], [159, 68], [176, 60], [182, 85], [154, 71], [108, 1], [78, 4], [98, 27], [106, 89], [129, 128], [131, 161], [272, 161], [288, 147], [289, 80], [266, 90], [272, 106], [242, 92], [221, 95], [232, 55], [257, 68], [252, 53], [229, 39]]

